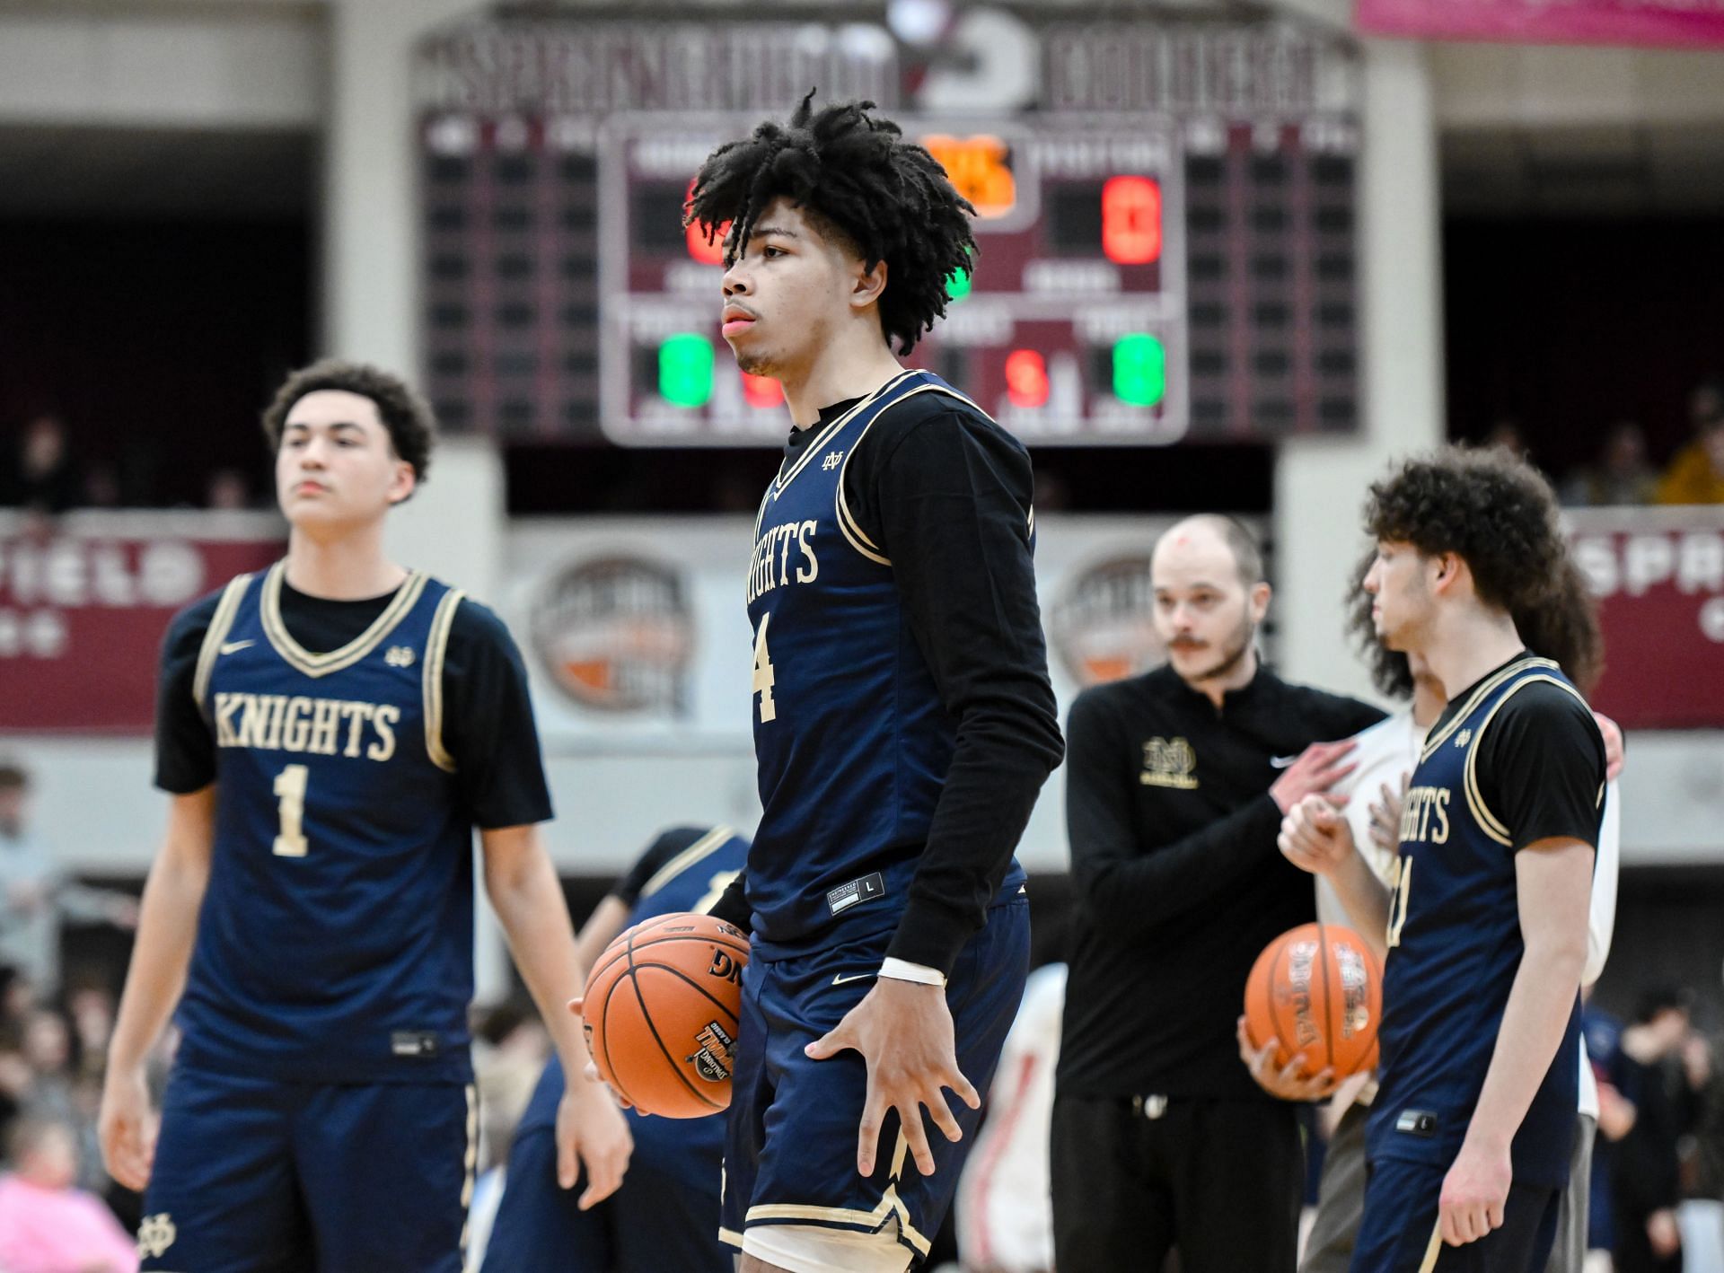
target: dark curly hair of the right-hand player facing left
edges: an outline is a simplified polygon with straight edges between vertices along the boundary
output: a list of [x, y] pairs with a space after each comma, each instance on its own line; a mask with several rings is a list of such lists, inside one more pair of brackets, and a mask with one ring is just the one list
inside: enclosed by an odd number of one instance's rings
[[1555, 593], [1569, 551], [1550, 482], [1502, 446], [1445, 446], [1407, 460], [1372, 482], [1365, 534], [1424, 556], [1455, 553], [1479, 599], [1512, 613]]

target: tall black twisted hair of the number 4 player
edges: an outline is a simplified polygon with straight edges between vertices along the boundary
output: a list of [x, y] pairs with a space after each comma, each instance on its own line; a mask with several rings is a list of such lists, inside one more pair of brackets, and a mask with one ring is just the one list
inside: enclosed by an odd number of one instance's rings
[[940, 160], [871, 110], [872, 102], [815, 110], [809, 93], [790, 124], [767, 121], [746, 140], [719, 146], [695, 176], [684, 224], [700, 226], [712, 243], [729, 222], [729, 264], [765, 205], [790, 200], [865, 269], [886, 262], [879, 326], [909, 353], [945, 315], [946, 281], [971, 267], [976, 208]]

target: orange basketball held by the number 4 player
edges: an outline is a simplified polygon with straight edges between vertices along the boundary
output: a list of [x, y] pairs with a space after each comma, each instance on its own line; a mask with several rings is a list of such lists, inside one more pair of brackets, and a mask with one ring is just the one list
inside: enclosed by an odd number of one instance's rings
[[583, 1030], [600, 1077], [645, 1115], [700, 1118], [731, 1102], [748, 937], [710, 915], [659, 915], [586, 975]]

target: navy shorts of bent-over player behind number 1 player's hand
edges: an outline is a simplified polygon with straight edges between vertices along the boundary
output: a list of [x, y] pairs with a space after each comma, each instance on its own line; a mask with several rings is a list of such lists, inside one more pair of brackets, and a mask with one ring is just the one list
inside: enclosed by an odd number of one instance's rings
[[517, 1133], [483, 1273], [733, 1273], [719, 1242], [722, 1128], [698, 1125], [719, 1121], [631, 1116], [622, 1187], [590, 1211], [578, 1206], [584, 1173], [557, 1185], [555, 1128]]

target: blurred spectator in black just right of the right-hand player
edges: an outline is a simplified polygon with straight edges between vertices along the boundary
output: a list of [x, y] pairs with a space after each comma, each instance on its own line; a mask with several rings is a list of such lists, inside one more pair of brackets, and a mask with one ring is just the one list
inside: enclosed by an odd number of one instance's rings
[[1610, 1084], [1634, 1108], [1610, 1175], [1615, 1273], [1681, 1273], [1677, 1140], [1688, 1123], [1686, 1082], [1671, 1073], [1688, 1040], [1688, 996], [1653, 989], [1617, 1040]]

